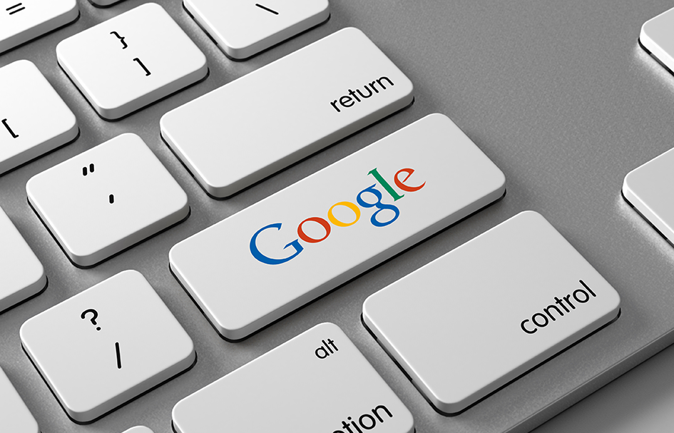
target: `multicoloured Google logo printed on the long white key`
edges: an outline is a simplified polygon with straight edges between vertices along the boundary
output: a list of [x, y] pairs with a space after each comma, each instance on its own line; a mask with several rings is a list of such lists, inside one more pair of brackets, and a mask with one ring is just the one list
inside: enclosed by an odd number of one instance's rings
[[[408, 185], [407, 181], [409, 180], [410, 176], [412, 176], [412, 173], [414, 173], [413, 168], [402, 168], [398, 170], [398, 172], [393, 176], [395, 185], [401, 190], [405, 191], [406, 193], [414, 193], [424, 188], [424, 186], [426, 185], [426, 182], [418, 186]], [[382, 177], [382, 175], [379, 174], [377, 168], [373, 168], [367, 174], [372, 175], [372, 177], [374, 177], [374, 179], [377, 180], [379, 185], [381, 185], [382, 188], [384, 188], [384, 190], [389, 195], [391, 195], [394, 202], [400, 200], [405, 196], [404, 194], [402, 195], [398, 194], [397, 191], [394, 190], [392, 186]], [[366, 200], [365, 198], [369, 198], [370, 201]], [[374, 203], [371, 203], [373, 201], [372, 198], [376, 200], [374, 201]], [[304, 247], [300, 243], [300, 240], [309, 244], [323, 242], [328, 238], [328, 236], [330, 236], [330, 233], [332, 233], [332, 225], [335, 225], [335, 227], [349, 227], [350, 225], [354, 225], [355, 223], [357, 223], [361, 217], [361, 208], [364, 209], [377, 208], [377, 211], [372, 213], [372, 216], [370, 216], [369, 221], [370, 223], [372, 223], [372, 225], [374, 225], [374, 227], [386, 227], [387, 225], [394, 223], [394, 221], [398, 219], [398, 217], [400, 216], [400, 210], [395, 205], [382, 203], [382, 198], [384, 198], [384, 194], [382, 193], [382, 191], [377, 189], [377, 183], [375, 183], [374, 185], [369, 186], [364, 190], [360, 191], [356, 195], [357, 205], [356, 203], [352, 203], [350, 201], [340, 201], [339, 203], [335, 203], [334, 205], [332, 205], [332, 207], [327, 211], [327, 220], [325, 220], [325, 218], [315, 216], [307, 218], [306, 220], [302, 221], [300, 225], [297, 225], [297, 236], [299, 238], [293, 240], [291, 243], [288, 243], [283, 248], [283, 250], [286, 250], [287, 248], [292, 248], [295, 251], [287, 258], [275, 259], [267, 257], [266, 255], [260, 253], [260, 250], [257, 248], [257, 236], [259, 236], [260, 233], [262, 233], [265, 230], [270, 230], [273, 228], [275, 228], [276, 230], [281, 230], [282, 223], [274, 223], [267, 225], [263, 228], [260, 228], [260, 230], [257, 230], [255, 235], [252, 235], [252, 238], [250, 239], [250, 253], [254, 258], [256, 258], [262, 263], [265, 263], [266, 265], [281, 265], [282, 263], [286, 263], [287, 261], [296, 258], [297, 255], [300, 255], [300, 253], [304, 251]], [[334, 210], [339, 206], [344, 206], [352, 210], [352, 212], [355, 215], [354, 220], [350, 222], [344, 222], [337, 219], [337, 217], [335, 217]], [[394, 215], [392, 216], [392, 218], [389, 218], [388, 220], [382, 220], [382, 218], [379, 217], [379, 213], [382, 212], [382, 210], [392, 210]], [[305, 223], [308, 222], [320, 224], [323, 230], [325, 230], [325, 235], [323, 235], [322, 238], [312, 238], [309, 235], [307, 235], [307, 233], [305, 233], [305, 230], [302, 227], [305, 225]]]

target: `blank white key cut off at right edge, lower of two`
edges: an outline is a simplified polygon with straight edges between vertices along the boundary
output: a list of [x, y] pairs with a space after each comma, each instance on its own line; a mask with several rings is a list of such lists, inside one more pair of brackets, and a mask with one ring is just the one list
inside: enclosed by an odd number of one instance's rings
[[623, 181], [623, 197], [643, 218], [674, 241], [674, 149], [630, 171]]

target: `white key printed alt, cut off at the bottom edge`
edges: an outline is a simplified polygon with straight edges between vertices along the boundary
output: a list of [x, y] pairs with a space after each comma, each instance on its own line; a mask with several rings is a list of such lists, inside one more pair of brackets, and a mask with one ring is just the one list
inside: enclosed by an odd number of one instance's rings
[[349, 337], [323, 323], [178, 402], [173, 429], [412, 433], [414, 419]]

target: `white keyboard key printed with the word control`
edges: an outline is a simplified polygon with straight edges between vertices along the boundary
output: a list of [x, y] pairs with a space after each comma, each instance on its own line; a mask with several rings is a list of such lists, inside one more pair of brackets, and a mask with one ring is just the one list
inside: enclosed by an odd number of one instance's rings
[[523, 212], [368, 297], [363, 321], [436, 409], [457, 414], [620, 305], [545, 218]]

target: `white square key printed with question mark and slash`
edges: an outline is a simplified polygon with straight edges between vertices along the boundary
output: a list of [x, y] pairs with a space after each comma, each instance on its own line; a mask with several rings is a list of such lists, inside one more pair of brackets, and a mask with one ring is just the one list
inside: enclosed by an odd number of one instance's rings
[[79, 423], [93, 422], [196, 362], [192, 339], [135, 270], [36, 315], [20, 333], [58, 402]]

